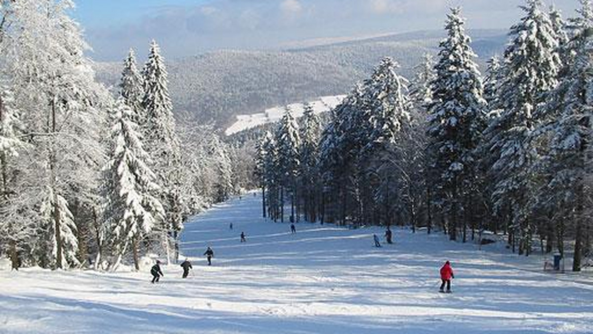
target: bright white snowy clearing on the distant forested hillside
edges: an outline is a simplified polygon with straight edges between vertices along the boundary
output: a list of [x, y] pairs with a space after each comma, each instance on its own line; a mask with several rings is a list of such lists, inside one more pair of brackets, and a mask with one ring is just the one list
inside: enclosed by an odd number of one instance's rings
[[[314, 113], [320, 114], [334, 109], [345, 97], [345, 95], [324, 96], [316, 101], [310, 101], [309, 104], [313, 107]], [[288, 106], [269, 108], [263, 113], [237, 115], [237, 121], [225, 130], [225, 135], [230, 136], [256, 126], [276, 122], [282, 118], [286, 108], [291, 110], [295, 118], [301, 117], [304, 112], [304, 104], [293, 103]]]

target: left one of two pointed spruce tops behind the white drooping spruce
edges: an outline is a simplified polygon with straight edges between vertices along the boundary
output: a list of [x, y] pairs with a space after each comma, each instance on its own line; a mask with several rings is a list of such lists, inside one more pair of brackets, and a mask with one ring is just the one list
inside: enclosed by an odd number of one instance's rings
[[120, 95], [123, 97], [127, 106], [132, 110], [132, 120], [137, 124], [144, 124], [145, 120], [140, 117], [145, 116], [142, 110], [142, 101], [144, 100], [144, 78], [136, 66], [136, 56], [134, 50], [130, 49], [126, 59], [123, 61], [122, 81], [119, 84]]

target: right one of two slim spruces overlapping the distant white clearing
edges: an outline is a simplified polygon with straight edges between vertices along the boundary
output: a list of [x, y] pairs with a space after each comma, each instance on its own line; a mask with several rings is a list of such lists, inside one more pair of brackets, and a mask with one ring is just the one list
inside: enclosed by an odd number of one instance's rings
[[305, 220], [317, 221], [319, 188], [319, 141], [321, 125], [313, 106], [305, 104], [301, 130], [301, 198], [304, 203]]

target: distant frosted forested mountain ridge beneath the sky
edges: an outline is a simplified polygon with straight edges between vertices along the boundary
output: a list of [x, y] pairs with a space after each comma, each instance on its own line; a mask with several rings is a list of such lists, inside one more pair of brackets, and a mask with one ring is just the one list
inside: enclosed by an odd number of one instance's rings
[[[469, 33], [484, 71], [487, 59], [501, 53], [507, 43], [506, 31]], [[189, 115], [197, 122], [213, 120], [225, 129], [239, 114], [345, 94], [355, 82], [369, 77], [384, 56], [396, 59], [401, 74], [410, 77], [423, 53], [436, 55], [444, 34], [440, 30], [415, 31], [283, 51], [220, 50], [167, 59], [171, 97], [177, 114]], [[136, 51], [144, 55], [144, 50]], [[139, 58], [138, 63], [144, 59]], [[116, 87], [121, 66], [95, 63], [97, 78]]]

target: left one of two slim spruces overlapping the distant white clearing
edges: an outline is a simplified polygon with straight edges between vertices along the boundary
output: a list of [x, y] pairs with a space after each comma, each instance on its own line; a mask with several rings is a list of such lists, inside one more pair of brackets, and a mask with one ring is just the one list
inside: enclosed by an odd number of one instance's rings
[[[295, 221], [295, 199], [299, 177], [298, 171], [301, 164], [301, 136], [298, 123], [292, 116], [292, 111], [286, 108], [275, 134], [276, 148], [278, 149], [278, 173], [280, 187], [280, 221], [284, 221], [285, 195], [291, 196], [291, 221]], [[286, 193], [288, 192], [288, 193]]]

